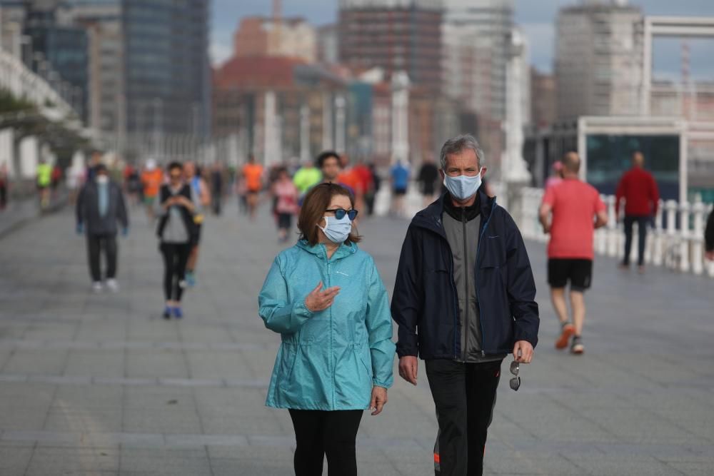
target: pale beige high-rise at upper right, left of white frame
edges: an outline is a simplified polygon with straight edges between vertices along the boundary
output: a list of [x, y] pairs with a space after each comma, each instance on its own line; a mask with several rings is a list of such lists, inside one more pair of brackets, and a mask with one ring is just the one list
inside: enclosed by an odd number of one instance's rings
[[558, 118], [638, 113], [643, 12], [624, 0], [560, 9], [555, 44]]

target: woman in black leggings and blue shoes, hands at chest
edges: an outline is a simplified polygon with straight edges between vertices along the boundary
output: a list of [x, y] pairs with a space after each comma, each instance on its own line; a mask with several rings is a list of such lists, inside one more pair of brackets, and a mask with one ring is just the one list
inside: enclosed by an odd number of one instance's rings
[[164, 319], [171, 316], [180, 319], [181, 297], [186, 287], [186, 262], [191, 252], [195, 224], [193, 212], [195, 204], [191, 195], [191, 186], [183, 179], [181, 163], [169, 164], [169, 183], [159, 189], [159, 250], [164, 257]]

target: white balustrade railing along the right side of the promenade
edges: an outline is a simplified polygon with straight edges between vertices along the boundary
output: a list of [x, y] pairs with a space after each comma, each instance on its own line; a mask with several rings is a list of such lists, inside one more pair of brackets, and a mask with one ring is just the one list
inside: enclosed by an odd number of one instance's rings
[[[520, 216], [514, 216], [523, 237], [541, 242], [548, 241], [548, 235], [538, 220], [538, 208], [543, 199], [542, 188], [522, 188], [518, 197], [521, 201]], [[623, 258], [625, 255], [625, 233], [623, 223], [615, 221], [615, 196], [602, 196], [608, 207], [608, 225], [595, 231], [595, 253]], [[714, 278], [714, 263], [704, 257], [704, 226], [712, 210], [711, 204], [700, 199], [693, 203], [677, 203], [673, 200], [660, 201], [655, 226], [648, 233], [645, 244], [645, 263], [661, 266], [682, 273], [708, 274]], [[624, 213], [620, 213], [620, 217]], [[666, 218], [665, 218], [666, 217]], [[677, 227], [679, 218], [679, 227]], [[666, 228], [663, 223], [666, 222]], [[631, 257], [637, 254], [637, 224], [633, 227], [633, 249]]]

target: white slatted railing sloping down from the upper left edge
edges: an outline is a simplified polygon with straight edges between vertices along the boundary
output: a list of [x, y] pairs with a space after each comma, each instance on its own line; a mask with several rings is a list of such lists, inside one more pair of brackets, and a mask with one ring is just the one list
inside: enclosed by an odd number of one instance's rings
[[72, 116], [74, 111], [50, 84], [30, 71], [19, 59], [0, 49], [0, 88], [10, 91], [16, 98], [26, 98], [31, 103], [46, 110], [46, 103], [52, 103], [61, 116]]

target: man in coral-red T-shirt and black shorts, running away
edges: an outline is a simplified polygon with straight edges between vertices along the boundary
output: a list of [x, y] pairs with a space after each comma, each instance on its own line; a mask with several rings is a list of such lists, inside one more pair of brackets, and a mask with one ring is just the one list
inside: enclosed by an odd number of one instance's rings
[[[562, 162], [563, 182], [545, 189], [539, 216], [543, 232], [550, 233], [548, 284], [550, 300], [560, 321], [560, 337], [555, 341], [555, 348], [567, 348], [572, 337], [570, 352], [582, 354], [585, 350], [585, 290], [592, 284], [595, 257], [593, 232], [608, 223], [608, 214], [600, 193], [578, 178], [578, 153], [566, 153]], [[568, 318], [565, 302], [568, 283], [572, 320]]]

